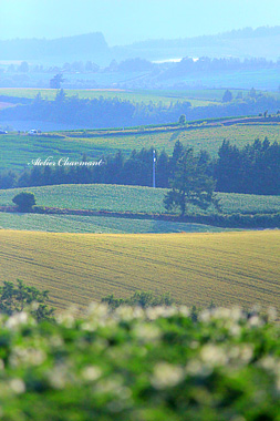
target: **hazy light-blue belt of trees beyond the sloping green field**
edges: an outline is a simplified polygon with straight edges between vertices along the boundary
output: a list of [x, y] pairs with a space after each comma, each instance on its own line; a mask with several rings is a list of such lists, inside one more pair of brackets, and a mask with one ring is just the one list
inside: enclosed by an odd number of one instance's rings
[[[59, 88], [63, 81], [61, 75], [51, 80], [53, 88]], [[269, 110], [277, 113], [280, 100], [265, 95], [250, 94], [245, 99], [232, 101], [232, 94], [225, 92], [224, 104], [191, 107], [189, 101], [172, 102], [165, 105], [162, 102], [132, 102], [118, 97], [79, 99], [66, 96], [59, 90], [55, 101], [46, 101], [39, 94], [31, 104], [4, 109], [0, 113], [2, 121], [45, 121], [54, 123], [74, 124], [89, 129], [138, 126], [146, 124], [166, 124], [178, 121], [182, 114], [188, 121], [198, 119], [253, 115]], [[10, 101], [11, 102], [11, 101]]]

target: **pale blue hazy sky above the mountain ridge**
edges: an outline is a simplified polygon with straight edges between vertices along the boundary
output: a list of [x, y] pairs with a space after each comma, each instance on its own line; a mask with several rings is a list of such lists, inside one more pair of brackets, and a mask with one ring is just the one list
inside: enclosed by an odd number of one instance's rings
[[0, 0], [0, 39], [103, 32], [110, 45], [280, 24], [279, 0]]

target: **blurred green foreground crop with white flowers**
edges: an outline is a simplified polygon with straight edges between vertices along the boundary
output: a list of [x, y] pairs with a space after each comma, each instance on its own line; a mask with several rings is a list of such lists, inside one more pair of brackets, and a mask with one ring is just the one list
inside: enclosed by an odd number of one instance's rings
[[4, 421], [280, 420], [279, 326], [239, 309], [114, 312], [0, 322]]

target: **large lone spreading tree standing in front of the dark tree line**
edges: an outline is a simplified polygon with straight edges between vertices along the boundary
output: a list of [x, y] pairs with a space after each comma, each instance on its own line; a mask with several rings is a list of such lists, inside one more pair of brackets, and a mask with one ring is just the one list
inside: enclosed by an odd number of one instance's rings
[[188, 204], [207, 209], [211, 204], [217, 208], [218, 201], [214, 195], [215, 181], [206, 172], [206, 165], [199, 164], [199, 157], [194, 155], [194, 150], [183, 152], [177, 161], [174, 177], [170, 179], [172, 191], [164, 198], [167, 210], [180, 208], [184, 216]]

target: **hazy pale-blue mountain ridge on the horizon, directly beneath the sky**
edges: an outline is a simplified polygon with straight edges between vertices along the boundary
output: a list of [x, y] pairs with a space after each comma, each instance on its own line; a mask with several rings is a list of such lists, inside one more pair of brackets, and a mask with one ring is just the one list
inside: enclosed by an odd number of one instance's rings
[[98, 64], [112, 60], [149, 61], [184, 57], [280, 58], [280, 25], [245, 28], [214, 35], [185, 39], [154, 39], [110, 48], [102, 32], [48, 39], [0, 40], [1, 60], [93, 60]]

